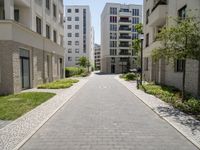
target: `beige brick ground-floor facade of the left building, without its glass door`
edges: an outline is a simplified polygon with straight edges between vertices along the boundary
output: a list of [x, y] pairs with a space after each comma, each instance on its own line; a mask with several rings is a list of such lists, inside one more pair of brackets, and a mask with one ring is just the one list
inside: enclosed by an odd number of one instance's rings
[[[18, 93], [22, 90], [20, 48], [30, 53], [30, 88], [63, 78], [64, 57], [14, 41], [0, 41], [0, 94]], [[50, 56], [49, 76], [47, 56]], [[62, 62], [60, 62], [62, 61]], [[61, 66], [60, 66], [61, 65]]]

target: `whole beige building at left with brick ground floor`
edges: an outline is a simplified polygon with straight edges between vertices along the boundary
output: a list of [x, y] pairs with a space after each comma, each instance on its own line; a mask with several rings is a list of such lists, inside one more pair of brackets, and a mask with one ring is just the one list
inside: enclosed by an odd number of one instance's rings
[[64, 75], [63, 0], [0, 0], [0, 94]]

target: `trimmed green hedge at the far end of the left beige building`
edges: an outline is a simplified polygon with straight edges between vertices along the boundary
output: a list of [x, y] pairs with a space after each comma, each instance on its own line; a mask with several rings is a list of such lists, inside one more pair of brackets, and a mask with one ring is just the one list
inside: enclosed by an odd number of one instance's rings
[[65, 77], [79, 76], [85, 71], [81, 67], [67, 67], [65, 68]]

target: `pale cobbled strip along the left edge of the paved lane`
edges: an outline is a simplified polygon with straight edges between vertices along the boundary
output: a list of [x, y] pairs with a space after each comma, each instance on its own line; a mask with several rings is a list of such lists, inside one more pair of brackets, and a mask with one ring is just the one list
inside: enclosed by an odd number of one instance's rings
[[[87, 81], [88, 79], [81, 79], [78, 83], [74, 84], [74, 86], [55, 92], [58, 93], [56, 96], [0, 129], [0, 149], [11, 150], [19, 148], [81, 87], [83, 87]], [[27, 92], [30, 91], [39, 90], [28, 90]], [[43, 91], [51, 92], [51, 90]]]

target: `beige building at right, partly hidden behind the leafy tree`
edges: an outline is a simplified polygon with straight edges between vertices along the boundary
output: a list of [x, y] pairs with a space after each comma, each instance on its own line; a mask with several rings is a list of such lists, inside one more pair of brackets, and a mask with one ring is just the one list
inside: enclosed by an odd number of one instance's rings
[[[182, 61], [160, 60], [153, 62], [151, 52], [160, 46], [156, 35], [164, 25], [171, 26], [175, 22], [169, 17], [184, 17], [188, 10], [199, 16], [199, 0], [144, 0], [144, 78], [159, 84], [182, 87]], [[194, 11], [195, 10], [195, 11]], [[195, 95], [200, 91], [200, 65], [198, 61], [187, 60], [186, 90]]]

